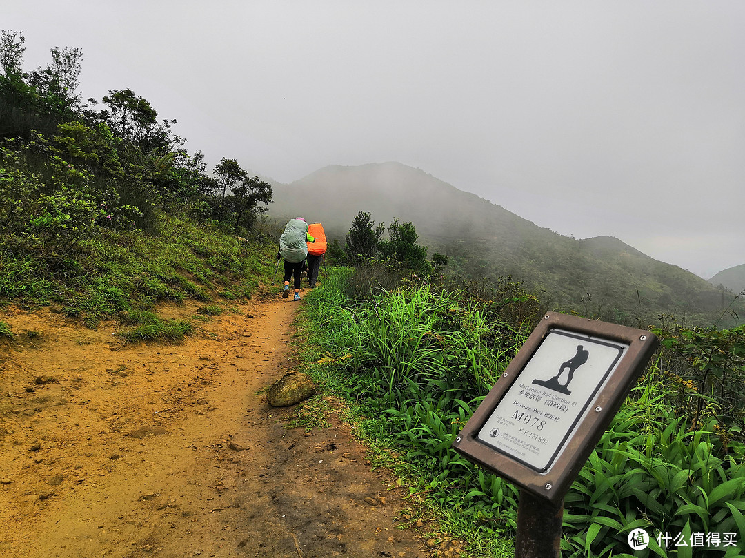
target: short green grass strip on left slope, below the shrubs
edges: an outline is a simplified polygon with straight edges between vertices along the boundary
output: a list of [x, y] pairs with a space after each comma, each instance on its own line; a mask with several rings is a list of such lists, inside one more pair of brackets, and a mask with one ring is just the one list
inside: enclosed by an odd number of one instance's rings
[[63, 307], [95, 327], [122, 311], [186, 299], [251, 296], [273, 271], [275, 246], [244, 244], [188, 219], [159, 216], [159, 234], [103, 231], [69, 254], [29, 251], [0, 236], [0, 304]]

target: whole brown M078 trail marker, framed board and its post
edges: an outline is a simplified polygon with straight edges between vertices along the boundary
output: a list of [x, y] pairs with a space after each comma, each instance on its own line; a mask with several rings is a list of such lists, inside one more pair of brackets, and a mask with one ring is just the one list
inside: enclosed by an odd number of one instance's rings
[[563, 498], [658, 346], [647, 331], [551, 312], [453, 448], [521, 487], [519, 558], [559, 557]]

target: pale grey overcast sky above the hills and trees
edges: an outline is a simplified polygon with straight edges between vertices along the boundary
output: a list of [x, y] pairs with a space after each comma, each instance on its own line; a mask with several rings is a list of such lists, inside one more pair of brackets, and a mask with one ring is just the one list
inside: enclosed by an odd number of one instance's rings
[[745, 263], [745, 2], [5, 0], [188, 150], [291, 182], [399, 161], [577, 238]]

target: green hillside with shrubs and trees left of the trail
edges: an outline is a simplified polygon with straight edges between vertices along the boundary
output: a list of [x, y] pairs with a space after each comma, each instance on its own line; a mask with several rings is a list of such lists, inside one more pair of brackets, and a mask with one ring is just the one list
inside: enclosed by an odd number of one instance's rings
[[232, 159], [209, 173], [130, 89], [84, 103], [80, 49], [24, 71], [22, 33], [1, 39], [0, 304], [54, 304], [95, 327], [256, 291], [273, 264], [254, 226], [270, 185]]

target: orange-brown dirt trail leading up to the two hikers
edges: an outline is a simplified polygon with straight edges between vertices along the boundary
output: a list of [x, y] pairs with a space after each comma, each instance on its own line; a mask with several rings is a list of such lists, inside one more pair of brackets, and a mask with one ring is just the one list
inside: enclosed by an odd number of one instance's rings
[[295, 308], [235, 304], [183, 344], [1, 312], [19, 338], [0, 345], [0, 556], [430, 554], [347, 426], [288, 429], [256, 394], [294, 365]]

